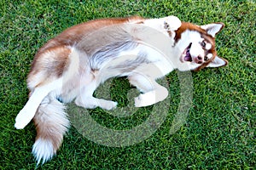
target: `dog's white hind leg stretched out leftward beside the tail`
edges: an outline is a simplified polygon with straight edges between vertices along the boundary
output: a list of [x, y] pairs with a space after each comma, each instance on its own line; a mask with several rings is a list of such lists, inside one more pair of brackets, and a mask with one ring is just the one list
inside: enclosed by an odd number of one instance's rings
[[35, 116], [35, 113], [38, 110], [38, 106], [41, 104], [44, 97], [55, 89], [61, 89], [61, 86], [62, 79], [60, 78], [54, 82], [50, 82], [43, 86], [34, 88], [32, 95], [26, 102], [26, 105], [15, 118], [15, 127], [17, 129], [26, 127], [26, 125], [32, 120], [33, 116]]

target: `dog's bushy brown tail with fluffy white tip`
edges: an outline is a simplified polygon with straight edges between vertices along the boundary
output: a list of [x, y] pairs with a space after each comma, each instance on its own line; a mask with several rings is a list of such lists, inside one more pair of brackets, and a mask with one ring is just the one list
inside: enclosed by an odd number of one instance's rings
[[69, 121], [65, 105], [50, 94], [44, 98], [33, 118], [37, 127], [37, 138], [32, 153], [38, 164], [48, 161], [60, 148], [63, 135], [67, 133]]

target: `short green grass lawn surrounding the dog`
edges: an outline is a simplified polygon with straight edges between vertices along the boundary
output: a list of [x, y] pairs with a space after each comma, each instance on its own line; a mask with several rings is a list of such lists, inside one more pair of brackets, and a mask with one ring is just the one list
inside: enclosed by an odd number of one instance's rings
[[[180, 101], [174, 71], [166, 77], [171, 96], [166, 120], [148, 139], [108, 147], [71, 127], [57, 156], [38, 169], [253, 169], [256, 165], [255, 1], [3, 0], [0, 11], [0, 169], [36, 167], [31, 154], [35, 127], [31, 122], [16, 130], [14, 124], [27, 101], [26, 75], [38, 48], [69, 26], [134, 14], [148, 18], [173, 14], [198, 25], [224, 22], [217, 49], [230, 64], [192, 72], [193, 106], [176, 133], [169, 134]], [[118, 78], [113, 85], [113, 99], [126, 105], [128, 82]], [[147, 120], [151, 110], [116, 117], [96, 109], [90, 115], [102, 126], [128, 129]]]

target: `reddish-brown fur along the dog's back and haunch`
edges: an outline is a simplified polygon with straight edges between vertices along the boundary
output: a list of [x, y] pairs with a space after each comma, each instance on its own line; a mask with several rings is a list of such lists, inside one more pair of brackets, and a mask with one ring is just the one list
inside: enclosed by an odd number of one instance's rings
[[[61, 77], [68, 65], [68, 55], [71, 53], [70, 48], [75, 43], [81, 41], [81, 38], [105, 26], [113, 26], [125, 22], [143, 23], [143, 18], [132, 16], [127, 18], [113, 18], [103, 20], [91, 20], [77, 26], [72, 26], [63, 31], [57, 37], [52, 38], [35, 55], [31, 71], [28, 74], [27, 83], [34, 81], [39, 71], [46, 71], [42, 81], [54, 77]], [[52, 55], [48, 55], [52, 54]], [[47, 61], [47, 62], [45, 62]], [[43, 82], [38, 82], [33, 88], [41, 86]], [[31, 88], [30, 90], [32, 90]]]

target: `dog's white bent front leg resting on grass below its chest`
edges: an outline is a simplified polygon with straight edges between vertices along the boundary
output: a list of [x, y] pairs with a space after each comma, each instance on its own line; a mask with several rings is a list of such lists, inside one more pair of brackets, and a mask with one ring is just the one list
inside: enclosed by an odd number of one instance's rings
[[154, 81], [151, 77], [133, 74], [128, 77], [129, 82], [136, 86], [143, 94], [135, 98], [135, 106], [154, 105], [168, 96], [168, 90]]

